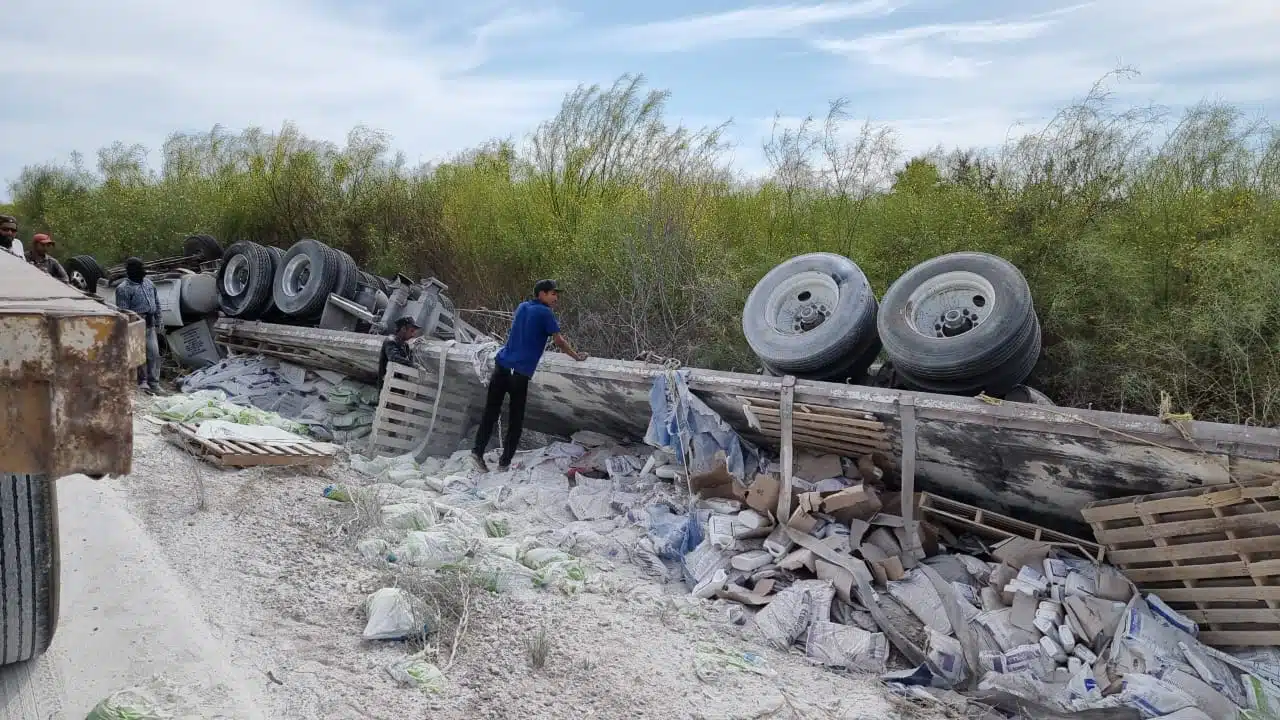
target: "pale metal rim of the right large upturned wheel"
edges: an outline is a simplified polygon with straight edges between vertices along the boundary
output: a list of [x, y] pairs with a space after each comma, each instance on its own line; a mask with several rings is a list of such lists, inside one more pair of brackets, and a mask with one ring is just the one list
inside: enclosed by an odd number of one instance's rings
[[906, 299], [906, 319], [924, 337], [956, 337], [983, 323], [996, 309], [996, 288], [965, 270], [934, 275]]

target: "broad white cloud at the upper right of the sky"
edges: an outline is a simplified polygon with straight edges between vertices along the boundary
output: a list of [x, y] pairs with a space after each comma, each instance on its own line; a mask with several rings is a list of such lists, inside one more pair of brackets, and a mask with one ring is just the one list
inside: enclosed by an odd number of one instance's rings
[[[983, 10], [813, 45], [846, 61], [828, 78], [873, 99], [858, 114], [892, 124], [909, 152], [936, 145], [991, 147], [1043, 126], [1120, 67], [1121, 105], [1178, 109], [1202, 99], [1280, 100], [1280, 9], [1274, 0], [1126, 0], [1052, 13]], [[987, 17], [983, 17], [986, 14]], [[995, 17], [992, 17], [995, 15]]]

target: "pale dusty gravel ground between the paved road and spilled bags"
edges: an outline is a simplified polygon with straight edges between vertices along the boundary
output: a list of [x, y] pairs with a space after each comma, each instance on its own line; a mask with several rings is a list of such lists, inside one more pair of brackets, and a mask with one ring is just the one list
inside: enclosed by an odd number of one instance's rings
[[[344, 533], [349, 506], [321, 496], [335, 482], [370, 480], [344, 462], [319, 474], [220, 470], [165, 442], [143, 414], [140, 402], [133, 474], [106, 482], [127, 492], [233, 665], [260, 683], [270, 717], [941, 717], [873, 676], [753, 642], [680, 583], [590, 565], [596, 582], [576, 596], [477, 593], [447, 691], [401, 687], [384, 669], [413, 648], [361, 639], [361, 606], [385, 573]], [[524, 642], [539, 628], [550, 651], [534, 670]], [[724, 669], [700, 679], [699, 643], [759, 653], [776, 675]]]

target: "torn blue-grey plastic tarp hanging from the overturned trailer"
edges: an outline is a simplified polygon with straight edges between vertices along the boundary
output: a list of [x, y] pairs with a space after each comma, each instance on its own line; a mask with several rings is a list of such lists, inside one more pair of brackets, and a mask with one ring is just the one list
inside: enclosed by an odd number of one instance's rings
[[[649, 429], [645, 443], [666, 450], [694, 474], [712, 470], [716, 455], [724, 454], [728, 473], [745, 483], [760, 469], [760, 454], [689, 389], [689, 370], [663, 373], [649, 391]], [[686, 447], [689, 455], [686, 457]]]

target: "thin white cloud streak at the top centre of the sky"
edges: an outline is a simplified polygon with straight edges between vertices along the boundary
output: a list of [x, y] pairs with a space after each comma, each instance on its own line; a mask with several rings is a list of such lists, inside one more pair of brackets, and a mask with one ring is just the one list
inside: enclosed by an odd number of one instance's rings
[[817, 5], [756, 5], [620, 27], [604, 33], [602, 46], [672, 53], [735, 40], [788, 37], [829, 23], [887, 15], [902, 4], [900, 0], [861, 0]]

